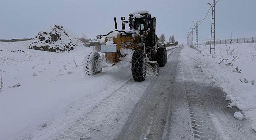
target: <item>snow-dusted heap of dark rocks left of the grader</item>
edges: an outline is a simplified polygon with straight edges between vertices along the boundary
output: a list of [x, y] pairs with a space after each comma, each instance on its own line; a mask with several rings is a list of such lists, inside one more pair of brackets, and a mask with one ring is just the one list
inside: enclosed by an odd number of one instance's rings
[[84, 43], [66, 33], [62, 26], [57, 24], [38, 32], [32, 39], [29, 48], [52, 52], [64, 52], [76, 47], [84, 46]]

